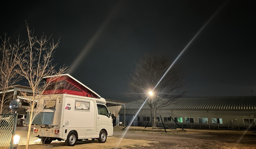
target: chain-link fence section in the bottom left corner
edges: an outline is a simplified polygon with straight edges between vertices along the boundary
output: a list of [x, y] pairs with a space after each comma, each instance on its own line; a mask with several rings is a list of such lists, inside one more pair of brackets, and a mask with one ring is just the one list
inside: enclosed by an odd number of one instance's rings
[[0, 149], [12, 149], [18, 114], [0, 114]]

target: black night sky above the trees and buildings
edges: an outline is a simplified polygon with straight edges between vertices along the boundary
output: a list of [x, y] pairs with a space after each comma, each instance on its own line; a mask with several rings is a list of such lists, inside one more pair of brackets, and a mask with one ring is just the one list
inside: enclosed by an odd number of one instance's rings
[[[35, 34], [60, 37], [54, 63], [71, 66], [99, 32], [70, 74], [104, 98], [129, 101], [134, 60], [162, 52], [173, 61], [224, 2], [10, 0], [0, 5], [0, 33], [26, 37], [26, 20]], [[176, 63], [188, 81], [184, 97], [256, 95], [255, 14], [253, 1], [232, 0], [204, 28]]]

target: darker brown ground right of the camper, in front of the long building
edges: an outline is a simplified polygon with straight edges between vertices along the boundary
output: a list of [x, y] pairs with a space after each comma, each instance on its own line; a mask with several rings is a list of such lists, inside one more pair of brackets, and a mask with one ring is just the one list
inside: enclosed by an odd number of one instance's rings
[[[122, 137], [124, 131], [114, 131], [114, 137]], [[182, 133], [128, 131], [126, 139], [156, 141], [142, 149], [256, 149], [256, 133], [252, 131], [223, 131], [187, 129]], [[136, 149], [137, 147], [129, 147]]]

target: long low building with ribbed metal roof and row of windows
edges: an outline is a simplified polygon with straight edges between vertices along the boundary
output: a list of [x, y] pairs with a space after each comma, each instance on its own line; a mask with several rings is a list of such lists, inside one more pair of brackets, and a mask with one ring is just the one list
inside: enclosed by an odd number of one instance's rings
[[[138, 101], [125, 104], [126, 125], [131, 123], [141, 105]], [[123, 121], [122, 109], [120, 121]], [[152, 126], [152, 115], [150, 107], [145, 104], [131, 125]], [[251, 129], [256, 127], [255, 119], [256, 96], [180, 98], [157, 110], [158, 127]]]

